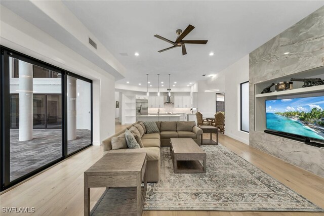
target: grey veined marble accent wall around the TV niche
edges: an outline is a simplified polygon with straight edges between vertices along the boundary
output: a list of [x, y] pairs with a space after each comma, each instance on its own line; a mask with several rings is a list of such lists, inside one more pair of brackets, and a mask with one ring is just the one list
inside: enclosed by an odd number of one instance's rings
[[[284, 53], [290, 52], [288, 55]], [[250, 53], [250, 145], [324, 177], [324, 149], [255, 131], [255, 84], [324, 65], [324, 7]]]

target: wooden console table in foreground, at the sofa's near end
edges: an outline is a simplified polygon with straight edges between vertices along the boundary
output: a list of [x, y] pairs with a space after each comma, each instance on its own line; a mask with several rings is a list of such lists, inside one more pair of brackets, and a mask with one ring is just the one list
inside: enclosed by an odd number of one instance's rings
[[101, 187], [107, 190], [91, 215], [142, 215], [146, 160], [146, 153], [107, 153], [85, 171], [85, 215], [90, 215], [90, 188]]

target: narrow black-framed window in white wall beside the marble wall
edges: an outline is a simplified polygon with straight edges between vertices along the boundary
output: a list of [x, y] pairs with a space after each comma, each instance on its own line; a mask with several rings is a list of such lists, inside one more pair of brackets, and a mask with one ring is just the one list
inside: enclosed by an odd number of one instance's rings
[[249, 132], [249, 81], [240, 84], [241, 131]]

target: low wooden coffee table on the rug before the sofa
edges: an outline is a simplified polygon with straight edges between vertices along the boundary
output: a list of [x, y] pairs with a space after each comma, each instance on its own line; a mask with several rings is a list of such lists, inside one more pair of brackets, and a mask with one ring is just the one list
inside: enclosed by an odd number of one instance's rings
[[[206, 173], [206, 153], [191, 138], [171, 138], [174, 173]], [[204, 161], [204, 166], [199, 160]]]

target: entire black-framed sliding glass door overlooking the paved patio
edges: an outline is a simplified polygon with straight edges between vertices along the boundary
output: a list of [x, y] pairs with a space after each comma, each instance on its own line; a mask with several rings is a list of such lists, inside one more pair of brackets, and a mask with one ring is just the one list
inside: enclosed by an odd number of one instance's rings
[[4, 190], [92, 145], [92, 81], [1, 50]]

